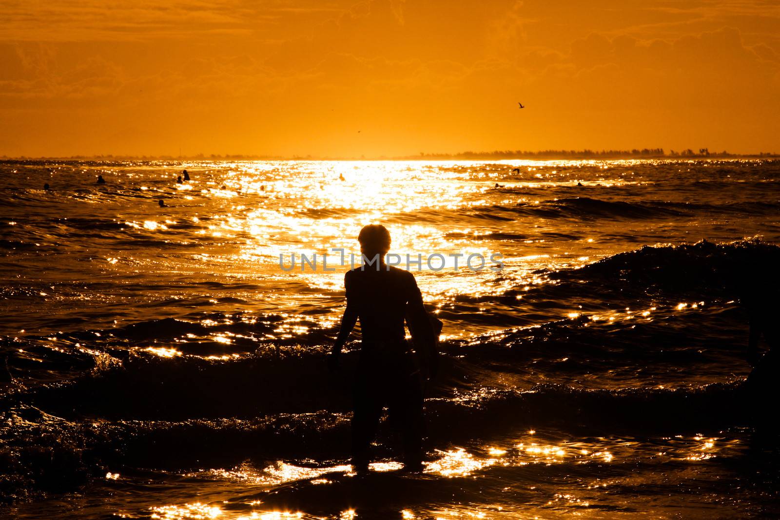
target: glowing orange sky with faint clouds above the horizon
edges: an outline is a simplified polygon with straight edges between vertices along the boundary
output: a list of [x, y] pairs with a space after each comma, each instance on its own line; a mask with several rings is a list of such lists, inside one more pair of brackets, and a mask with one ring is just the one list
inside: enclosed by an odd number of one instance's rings
[[0, 13], [0, 155], [780, 152], [776, 0], [0, 0]]

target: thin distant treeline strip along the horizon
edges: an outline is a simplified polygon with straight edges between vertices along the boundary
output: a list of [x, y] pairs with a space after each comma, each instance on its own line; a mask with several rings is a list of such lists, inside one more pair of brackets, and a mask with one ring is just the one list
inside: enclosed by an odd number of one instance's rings
[[761, 154], [730, 154], [726, 150], [721, 152], [711, 152], [709, 148], [699, 148], [694, 151], [690, 148], [686, 150], [669, 150], [668, 153], [663, 148], [634, 148], [633, 150], [493, 150], [491, 152], [465, 151], [458, 154], [426, 154], [420, 152], [420, 155], [411, 155], [406, 157], [314, 157], [311, 155], [293, 157], [279, 157], [270, 155], [246, 155], [246, 154], [226, 154], [226, 155], [190, 155], [190, 156], [129, 156], [129, 155], [73, 155], [71, 157], [7, 157], [3, 155], [0, 160], [67, 160], [67, 161], [354, 161], [354, 160], [477, 160], [477, 161], [502, 161], [506, 159], [652, 159], [652, 158], [729, 158], [729, 157], [780, 157], [780, 154], [773, 152], [761, 152]]

